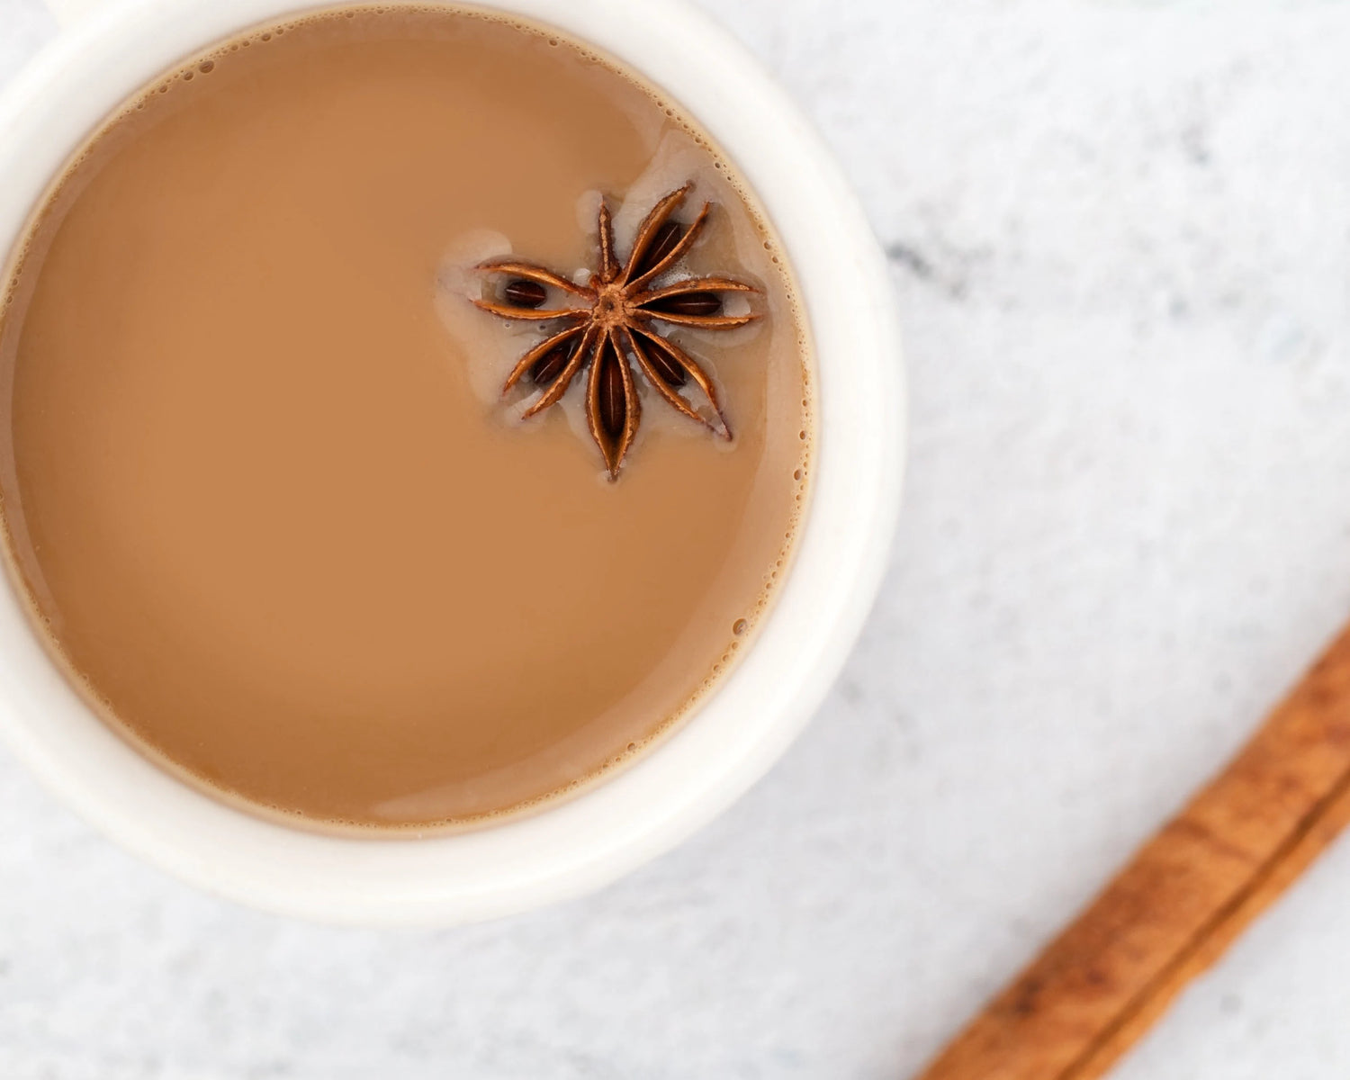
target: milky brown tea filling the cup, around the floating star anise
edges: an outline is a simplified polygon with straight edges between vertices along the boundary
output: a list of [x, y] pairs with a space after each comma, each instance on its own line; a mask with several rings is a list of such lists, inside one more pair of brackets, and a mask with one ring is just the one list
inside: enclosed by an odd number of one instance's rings
[[[161, 89], [165, 88], [165, 89]], [[0, 316], [11, 575], [88, 699], [185, 779], [315, 824], [535, 803], [640, 751], [748, 647], [809, 464], [776, 247], [678, 111], [547, 32], [336, 14], [194, 58], [86, 147]], [[675, 331], [732, 443], [649, 390], [617, 482], [501, 383], [540, 328], [468, 302], [514, 251], [593, 267], [693, 178]]]

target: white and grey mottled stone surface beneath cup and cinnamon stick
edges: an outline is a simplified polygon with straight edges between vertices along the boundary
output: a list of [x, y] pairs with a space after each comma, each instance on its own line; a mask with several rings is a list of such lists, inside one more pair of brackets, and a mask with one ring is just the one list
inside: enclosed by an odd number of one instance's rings
[[[1350, 614], [1350, 7], [703, 5], [905, 317], [899, 543], [821, 714], [668, 857], [443, 933], [198, 895], [0, 753], [0, 1076], [905, 1077]], [[53, 32], [0, 0], [0, 81]], [[1343, 842], [1118, 1076], [1343, 1077], [1347, 1002]]]

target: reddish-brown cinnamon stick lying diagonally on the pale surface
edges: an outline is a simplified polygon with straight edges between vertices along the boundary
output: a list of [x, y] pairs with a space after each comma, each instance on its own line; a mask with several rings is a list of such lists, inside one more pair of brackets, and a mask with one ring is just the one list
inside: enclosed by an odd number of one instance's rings
[[1094, 1080], [1350, 822], [1350, 629], [921, 1080]]

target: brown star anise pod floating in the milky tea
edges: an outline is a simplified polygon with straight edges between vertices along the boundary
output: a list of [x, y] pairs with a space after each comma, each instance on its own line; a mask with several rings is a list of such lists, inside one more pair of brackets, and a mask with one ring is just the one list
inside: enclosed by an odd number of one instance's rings
[[[688, 228], [672, 219], [691, 186], [686, 184], [671, 192], [652, 208], [637, 227], [633, 250], [622, 266], [614, 254], [609, 207], [601, 200], [598, 266], [589, 285], [576, 285], [547, 267], [514, 259], [495, 259], [479, 266], [510, 278], [501, 289], [500, 301], [474, 301], [485, 312], [505, 319], [566, 324], [520, 358], [502, 393], [509, 393], [528, 374], [543, 387], [539, 398], [524, 412], [525, 417], [531, 417], [562, 400], [576, 374], [589, 364], [586, 420], [610, 479], [618, 477], [641, 418], [633, 363], [672, 408], [722, 437], [732, 437], [713, 381], [693, 356], [667, 336], [668, 329], [662, 325], [733, 329], [759, 317], [753, 312], [722, 312], [724, 293], [757, 292], [732, 278], [686, 277], [666, 285], [656, 284], [694, 246], [707, 221], [710, 202], [703, 204]], [[549, 289], [579, 302], [545, 308]], [[707, 398], [716, 424], [679, 393], [691, 381]]]

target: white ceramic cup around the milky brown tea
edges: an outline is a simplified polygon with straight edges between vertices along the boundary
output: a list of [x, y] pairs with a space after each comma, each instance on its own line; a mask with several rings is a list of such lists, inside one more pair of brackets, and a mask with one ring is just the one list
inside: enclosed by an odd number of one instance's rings
[[[0, 252], [68, 155], [124, 97], [251, 24], [332, 3], [51, 0], [66, 30], [0, 99]], [[485, 4], [487, 5], [487, 4]], [[212, 892], [327, 922], [454, 923], [575, 896], [724, 810], [821, 703], [871, 608], [905, 440], [886, 262], [829, 153], [725, 32], [679, 0], [494, 0], [643, 72], [757, 192], [802, 288], [819, 373], [814, 491], [753, 647], [645, 757], [532, 817], [455, 836], [339, 838], [232, 810], [151, 765], [62, 680], [0, 589], [0, 733], [80, 814]]]

